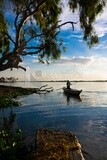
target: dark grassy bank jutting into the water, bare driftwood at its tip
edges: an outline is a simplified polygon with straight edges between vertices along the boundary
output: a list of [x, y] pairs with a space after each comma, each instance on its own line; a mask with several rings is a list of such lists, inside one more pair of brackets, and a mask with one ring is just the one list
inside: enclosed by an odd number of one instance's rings
[[53, 91], [53, 87], [46, 87], [47, 85], [43, 85], [40, 88], [23, 88], [0, 85], [0, 108], [20, 106], [21, 104], [16, 100], [18, 96], [30, 95], [33, 93], [45, 94]]

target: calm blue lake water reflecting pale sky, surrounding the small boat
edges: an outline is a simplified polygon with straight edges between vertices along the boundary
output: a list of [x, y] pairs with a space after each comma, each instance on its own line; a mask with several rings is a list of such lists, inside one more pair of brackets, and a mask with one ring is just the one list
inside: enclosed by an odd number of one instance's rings
[[80, 99], [63, 94], [59, 88], [65, 86], [64, 82], [17, 82], [14, 85], [45, 84], [54, 91], [18, 98], [22, 106], [2, 109], [0, 115], [5, 116], [10, 110], [15, 112], [15, 126], [24, 131], [27, 141], [34, 140], [38, 128], [72, 131], [87, 152], [87, 160], [107, 160], [107, 82], [75, 83], [73, 88], [83, 90]]

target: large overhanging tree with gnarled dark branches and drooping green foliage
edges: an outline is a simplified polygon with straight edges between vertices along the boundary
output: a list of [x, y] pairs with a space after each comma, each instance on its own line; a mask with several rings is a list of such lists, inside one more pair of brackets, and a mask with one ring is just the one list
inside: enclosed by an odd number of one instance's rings
[[[63, 47], [58, 39], [61, 26], [75, 22], [69, 21], [59, 25], [62, 11], [61, 0], [0, 0], [0, 71], [8, 68], [22, 68], [19, 63], [26, 55], [38, 55], [40, 62], [58, 59]], [[96, 16], [102, 12], [103, 0], [69, 0], [71, 11], [79, 10], [83, 39], [89, 46], [98, 42], [93, 28]], [[12, 24], [6, 20], [6, 12], [11, 7]], [[14, 36], [10, 34], [14, 28]]]

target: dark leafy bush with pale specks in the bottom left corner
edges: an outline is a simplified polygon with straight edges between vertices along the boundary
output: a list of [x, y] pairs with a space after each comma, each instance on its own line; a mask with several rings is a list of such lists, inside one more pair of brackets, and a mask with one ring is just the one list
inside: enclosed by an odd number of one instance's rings
[[24, 137], [21, 129], [13, 130], [15, 114], [10, 113], [8, 118], [3, 118], [0, 128], [0, 160], [21, 160], [26, 151]]

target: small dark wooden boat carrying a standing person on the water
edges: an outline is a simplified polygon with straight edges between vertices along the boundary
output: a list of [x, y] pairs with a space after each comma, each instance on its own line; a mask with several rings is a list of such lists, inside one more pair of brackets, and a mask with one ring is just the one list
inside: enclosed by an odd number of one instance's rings
[[64, 91], [64, 94], [67, 94], [67, 95], [72, 95], [72, 96], [79, 96], [80, 93], [82, 92], [82, 90], [77, 90], [77, 89], [67, 89], [66, 87], [63, 87], [63, 91]]

